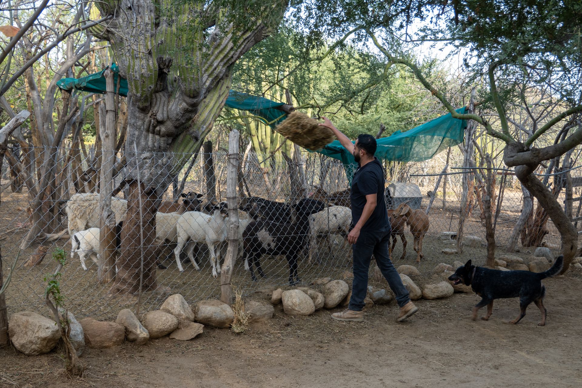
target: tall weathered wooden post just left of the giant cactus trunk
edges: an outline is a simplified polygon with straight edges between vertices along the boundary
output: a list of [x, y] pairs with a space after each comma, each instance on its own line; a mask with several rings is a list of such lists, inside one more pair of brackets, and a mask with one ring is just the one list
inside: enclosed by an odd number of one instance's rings
[[111, 210], [113, 191], [113, 164], [115, 163], [115, 95], [113, 94], [113, 72], [105, 70], [105, 130], [101, 136], [101, 179], [99, 209], [101, 218], [101, 260], [97, 277], [101, 283], [109, 283], [115, 278], [115, 214]]

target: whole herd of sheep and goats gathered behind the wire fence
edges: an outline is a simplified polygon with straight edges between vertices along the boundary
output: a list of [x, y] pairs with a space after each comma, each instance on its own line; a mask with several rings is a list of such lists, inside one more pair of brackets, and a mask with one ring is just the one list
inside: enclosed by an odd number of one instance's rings
[[[208, 247], [212, 276], [220, 273], [220, 258], [225, 255], [227, 247], [228, 206], [226, 202], [211, 201], [203, 204], [202, 194], [184, 193], [182, 202], [162, 202], [156, 213], [155, 244], [161, 249], [166, 244], [176, 244], [173, 253], [176, 266], [182, 272], [180, 254], [186, 248], [187, 256], [197, 270], [200, 270], [194, 248], [197, 244]], [[116, 248], [120, 246], [120, 232], [127, 213], [127, 201], [112, 198], [111, 208], [115, 213]], [[308, 254], [308, 263], [313, 261], [313, 250], [317, 238], [329, 239], [330, 234], [341, 234], [344, 238], [350, 231], [352, 212], [349, 208], [349, 189], [331, 195], [318, 188], [296, 204], [288, 205], [260, 197], [243, 198], [239, 210], [239, 258], [244, 259], [244, 268], [250, 271], [257, 281], [254, 268], [261, 277], [265, 276], [261, 268], [262, 255], [285, 255], [289, 264], [289, 283], [300, 282], [297, 273], [297, 259], [300, 253]], [[86, 258], [97, 264], [100, 247], [99, 194], [74, 194], [66, 202], [69, 236], [72, 237], [71, 257], [77, 252], [81, 266], [87, 270]], [[405, 202], [396, 209], [388, 210], [392, 224], [392, 246], [395, 248], [396, 237], [400, 236], [403, 253], [406, 255], [406, 238], [404, 225], [409, 225], [414, 236], [414, 250], [417, 262], [423, 257], [421, 253], [424, 234], [428, 230], [428, 216], [419, 209], [411, 209]], [[345, 241], [347, 242], [347, 241]], [[331, 242], [328, 250], [332, 255]], [[157, 257], [159, 258], [159, 251]], [[159, 268], [166, 267], [158, 261]]]

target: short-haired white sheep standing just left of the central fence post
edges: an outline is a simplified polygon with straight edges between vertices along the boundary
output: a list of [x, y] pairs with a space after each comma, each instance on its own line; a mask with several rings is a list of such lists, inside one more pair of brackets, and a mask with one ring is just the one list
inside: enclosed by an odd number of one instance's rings
[[206, 210], [211, 215], [202, 212], [185, 212], [176, 223], [178, 232], [177, 245], [174, 250], [176, 255], [176, 265], [180, 272], [183, 272], [180, 263], [180, 252], [184, 245], [188, 243], [188, 257], [197, 270], [200, 267], [194, 260], [194, 244], [206, 243], [210, 252], [210, 262], [212, 265], [212, 276], [217, 277], [220, 273], [220, 245], [226, 240], [226, 216], [228, 215], [226, 202], [219, 204], [208, 204]]

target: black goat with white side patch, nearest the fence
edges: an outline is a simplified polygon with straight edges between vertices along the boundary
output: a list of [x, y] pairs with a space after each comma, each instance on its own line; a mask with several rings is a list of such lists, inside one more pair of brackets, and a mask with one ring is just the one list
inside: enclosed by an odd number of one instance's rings
[[[263, 211], [265, 205], [258, 204]], [[324, 202], [304, 198], [296, 205], [292, 205], [297, 214], [296, 222], [272, 222], [258, 219], [247, 225], [243, 232], [244, 254], [249, 258], [249, 270], [253, 281], [257, 281], [254, 274], [253, 265], [257, 267], [259, 275], [265, 276], [262, 272], [261, 255], [285, 255], [289, 264], [289, 284], [294, 285], [300, 282], [297, 275], [297, 255], [306, 247], [309, 239], [309, 216], [322, 211], [325, 208]]]

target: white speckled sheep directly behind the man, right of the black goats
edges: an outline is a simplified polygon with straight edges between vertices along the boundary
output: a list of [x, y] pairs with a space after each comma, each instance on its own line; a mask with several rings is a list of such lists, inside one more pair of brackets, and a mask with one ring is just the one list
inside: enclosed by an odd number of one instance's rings
[[328, 250], [331, 254], [331, 241], [329, 240], [329, 234], [342, 234], [346, 237], [347, 233], [349, 233], [351, 223], [352, 210], [343, 206], [330, 206], [321, 212], [310, 215], [309, 226], [311, 239], [308, 262], [311, 263], [313, 250], [317, 246], [316, 241], [318, 236], [325, 236], [325, 239], [328, 241]]

